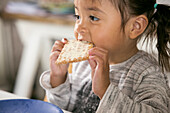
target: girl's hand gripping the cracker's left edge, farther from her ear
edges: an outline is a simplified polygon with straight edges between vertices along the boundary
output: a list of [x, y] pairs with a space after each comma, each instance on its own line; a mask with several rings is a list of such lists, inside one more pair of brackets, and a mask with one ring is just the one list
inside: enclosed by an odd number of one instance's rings
[[60, 84], [64, 83], [67, 76], [68, 64], [60, 64], [57, 65], [55, 62], [68, 41], [67, 39], [63, 39], [62, 41], [56, 41], [52, 47], [50, 54], [50, 83], [52, 87], [57, 87]]

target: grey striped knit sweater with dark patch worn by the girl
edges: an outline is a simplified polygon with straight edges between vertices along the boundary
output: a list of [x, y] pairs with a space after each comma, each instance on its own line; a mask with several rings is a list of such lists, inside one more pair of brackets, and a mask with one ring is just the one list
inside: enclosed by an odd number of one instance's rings
[[91, 69], [87, 61], [73, 64], [65, 83], [51, 88], [49, 71], [41, 86], [48, 100], [75, 113], [170, 113], [170, 90], [156, 60], [139, 51], [127, 61], [110, 66], [110, 81], [100, 100], [91, 90]]

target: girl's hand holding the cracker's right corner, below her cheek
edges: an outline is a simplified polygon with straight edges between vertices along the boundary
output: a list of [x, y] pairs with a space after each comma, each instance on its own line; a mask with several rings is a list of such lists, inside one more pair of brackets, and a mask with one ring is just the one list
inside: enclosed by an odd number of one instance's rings
[[102, 99], [110, 84], [108, 51], [99, 47], [89, 50], [89, 64], [92, 69], [92, 90]]

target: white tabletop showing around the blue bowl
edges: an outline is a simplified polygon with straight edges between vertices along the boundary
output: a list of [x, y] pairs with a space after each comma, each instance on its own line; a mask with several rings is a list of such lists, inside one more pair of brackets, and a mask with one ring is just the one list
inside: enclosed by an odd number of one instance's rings
[[[20, 96], [13, 94], [13, 93], [9, 93], [9, 92], [0, 90], [0, 100], [6, 100], [6, 99], [28, 99], [28, 98], [20, 97]], [[68, 111], [65, 111], [65, 110], [63, 110], [63, 112], [64, 113], [71, 113], [71, 112], [68, 112]]]

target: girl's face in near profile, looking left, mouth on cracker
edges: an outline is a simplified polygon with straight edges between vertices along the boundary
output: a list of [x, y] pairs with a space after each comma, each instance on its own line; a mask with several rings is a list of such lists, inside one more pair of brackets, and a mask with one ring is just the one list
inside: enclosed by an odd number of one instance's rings
[[75, 37], [108, 50], [111, 62], [117, 59], [115, 55], [120, 57], [127, 49], [129, 38], [126, 38], [126, 28], [125, 33], [121, 29], [121, 15], [113, 4], [109, 0], [75, 0], [74, 5]]

